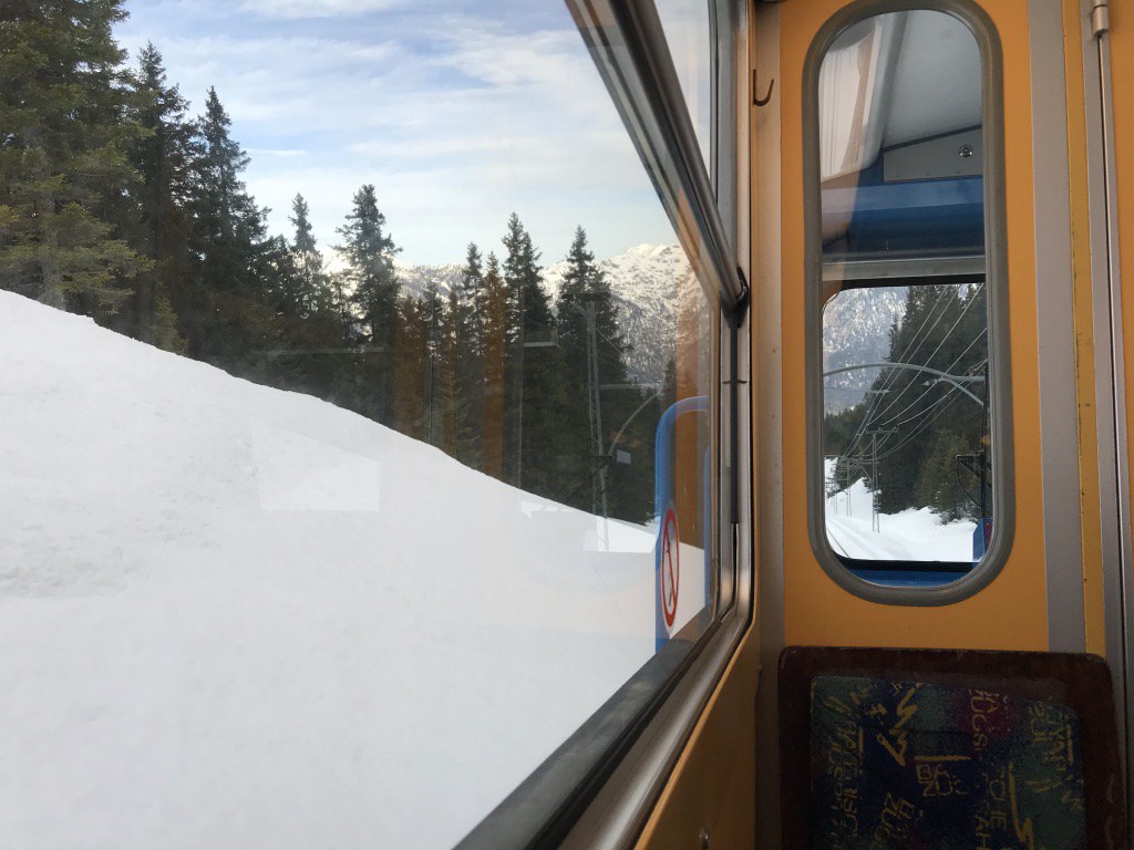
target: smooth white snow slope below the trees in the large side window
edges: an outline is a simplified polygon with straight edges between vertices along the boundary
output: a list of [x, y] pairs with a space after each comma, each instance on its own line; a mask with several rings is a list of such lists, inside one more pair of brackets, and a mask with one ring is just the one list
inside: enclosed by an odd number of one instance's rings
[[3, 848], [449, 847], [653, 652], [652, 532], [316, 399], [0, 292], [0, 409]]

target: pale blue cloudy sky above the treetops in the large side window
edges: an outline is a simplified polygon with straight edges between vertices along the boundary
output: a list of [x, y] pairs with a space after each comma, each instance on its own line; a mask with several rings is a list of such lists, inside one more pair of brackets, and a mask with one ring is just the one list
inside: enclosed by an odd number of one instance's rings
[[365, 182], [409, 263], [500, 252], [511, 211], [543, 262], [582, 223], [599, 256], [675, 243], [561, 0], [127, 0], [196, 114], [210, 85], [273, 232], [297, 192], [325, 249]]

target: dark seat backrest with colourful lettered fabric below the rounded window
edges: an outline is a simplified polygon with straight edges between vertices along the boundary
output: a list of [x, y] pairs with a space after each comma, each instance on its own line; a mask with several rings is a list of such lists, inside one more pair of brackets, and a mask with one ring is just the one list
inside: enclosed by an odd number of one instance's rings
[[1106, 663], [788, 647], [785, 850], [1127, 847]]

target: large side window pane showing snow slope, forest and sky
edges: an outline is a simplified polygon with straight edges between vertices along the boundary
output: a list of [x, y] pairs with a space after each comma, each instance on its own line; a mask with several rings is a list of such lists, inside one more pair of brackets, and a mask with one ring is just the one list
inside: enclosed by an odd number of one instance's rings
[[5, 5], [6, 841], [451, 847], [712, 613], [716, 316], [558, 0]]

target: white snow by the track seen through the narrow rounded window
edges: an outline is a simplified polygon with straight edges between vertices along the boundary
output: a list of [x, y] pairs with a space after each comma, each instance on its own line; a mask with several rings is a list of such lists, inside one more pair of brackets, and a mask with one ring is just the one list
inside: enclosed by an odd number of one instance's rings
[[[833, 461], [827, 461], [830, 476]], [[827, 499], [827, 539], [836, 554], [875, 561], [972, 561], [975, 522], [942, 524], [929, 508], [881, 515], [873, 530], [873, 494], [863, 479]]]

